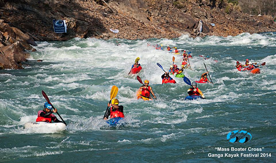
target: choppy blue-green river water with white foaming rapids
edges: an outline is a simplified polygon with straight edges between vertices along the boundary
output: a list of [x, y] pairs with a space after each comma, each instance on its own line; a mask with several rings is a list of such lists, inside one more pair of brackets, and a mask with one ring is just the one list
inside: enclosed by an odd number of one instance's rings
[[[181, 65], [181, 56], [147, 43], [191, 51], [191, 69], [184, 71], [191, 81], [206, 72], [205, 63], [214, 82], [198, 84], [206, 100], [184, 101], [189, 86], [182, 78], [174, 78], [177, 84], [161, 84], [163, 71], [156, 63], [168, 70], [173, 56]], [[134, 41], [74, 38], [37, 44], [25, 69], [0, 71], [0, 162], [275, 161], [276, 33]], [[139, 76], [150, 80], [155, 101], [137, 101], [141, 84], [127, 75], [137, 57], [143, 67]], [[260, 74], [235, 69], [235, 59], [246, 58], [266, 62]], [[119, 88], [116, 98], [127, 123], [115, 128], [102, 120], [113, 85]], [[68, 124], [66, 130], [24, 129], [43, 109], [41, 90]], [[250, 141], [227, 141], [229, 132], [249, 129]], [[244, 153], [271, 157], [208, 157], [225, 153], [216, 147], [264, 147]]]

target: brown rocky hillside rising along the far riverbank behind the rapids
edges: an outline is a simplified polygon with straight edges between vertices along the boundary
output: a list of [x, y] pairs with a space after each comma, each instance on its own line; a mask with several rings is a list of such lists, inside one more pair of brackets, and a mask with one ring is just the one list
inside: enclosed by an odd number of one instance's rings
[[[275, 31], [272, 17], [250, 17], [226, 0], [2, 0], [1, 19], [30, 33], [35, 40], [73, 37], [173, 38], [203, 20], [204, 35]], [[67, 33], [53, 32], [52, 19], [66, 20]], [[214, 23], [212, 27], [210, 23]], [[114, 34], [109, 29], [118, 29]]]

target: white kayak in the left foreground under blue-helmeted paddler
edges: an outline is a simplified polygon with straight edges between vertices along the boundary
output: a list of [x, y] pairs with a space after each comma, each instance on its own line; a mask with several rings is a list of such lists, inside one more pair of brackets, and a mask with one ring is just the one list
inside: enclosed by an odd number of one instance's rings
[[50, 123], [50, 122], [27, 122], [24, 124], [25, 128], [39, 128], [42, 130], [50, 129], [55, 131], [65, 130], [66, 125], [64, 123]]

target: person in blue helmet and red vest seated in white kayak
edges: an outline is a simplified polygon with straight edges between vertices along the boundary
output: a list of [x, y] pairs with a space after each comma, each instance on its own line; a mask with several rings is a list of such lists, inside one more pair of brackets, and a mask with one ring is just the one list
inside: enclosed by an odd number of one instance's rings
[[53, 115], [52, 113], [56, 113], [57, 109], [53, 109], [53, 107], [48, 103], [44, 103], [44, 109], [40, 110], [37, 112], [37, 120], [36, 122], [55, 122], [55, 123], [59, 123], [62, 122], [60, 120], [57, 119], [57, 117], [55, 115]]

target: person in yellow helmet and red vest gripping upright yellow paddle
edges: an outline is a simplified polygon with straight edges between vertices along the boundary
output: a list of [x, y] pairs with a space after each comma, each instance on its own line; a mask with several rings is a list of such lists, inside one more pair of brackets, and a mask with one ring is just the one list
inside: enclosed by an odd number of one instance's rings
[[119, 100], [117, 98], [113, 98], [111, 100], [111, 104], [108, 103], [107, 106], [108, 107], [111, 106], [111, 107], [108, 108], [106, 112], [106, 116], [104, 117], [104, 120], [107, 120], [109, 115], [110, 115], [110, 119], [115, 117], [121, 117], [121, 118], [124, 117], [124, 113], [123, 113], [124, 107], [122, 105], [119, 105]]

